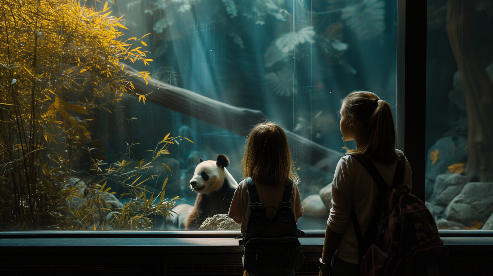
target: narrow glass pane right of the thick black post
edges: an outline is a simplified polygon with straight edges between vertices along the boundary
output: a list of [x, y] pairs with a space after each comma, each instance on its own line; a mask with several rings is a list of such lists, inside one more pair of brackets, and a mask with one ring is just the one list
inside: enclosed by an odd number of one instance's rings
[[493, 228], [491, 8], [428, 1], [425, 197], [439, 229]]

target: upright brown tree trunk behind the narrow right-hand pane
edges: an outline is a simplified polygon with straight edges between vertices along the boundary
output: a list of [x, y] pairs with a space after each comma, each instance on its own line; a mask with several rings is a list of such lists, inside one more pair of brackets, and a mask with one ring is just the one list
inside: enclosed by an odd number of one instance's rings
[[467, 111], [468, 159], [465, 174], [481, 182], [493, 181], [493, 133], [491, 81], [474, 43], [476, 1], [449, 0], [447, 32], [462, 77]]

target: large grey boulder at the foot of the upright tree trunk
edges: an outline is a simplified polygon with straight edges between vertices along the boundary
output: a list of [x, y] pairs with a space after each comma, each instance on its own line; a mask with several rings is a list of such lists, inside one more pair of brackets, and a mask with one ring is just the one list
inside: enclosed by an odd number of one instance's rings
[[471, 226], [474, 221], [487, 221], [493, 213], [493, 183], [471, 182], [445, 210], [447, 220]]

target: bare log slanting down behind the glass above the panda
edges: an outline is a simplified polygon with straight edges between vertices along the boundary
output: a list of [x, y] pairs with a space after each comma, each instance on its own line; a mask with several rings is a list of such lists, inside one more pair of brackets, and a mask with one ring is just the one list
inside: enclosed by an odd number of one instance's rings
[[[259, 110], [232, 106], [158, 80], [150, 79], [146, 85], [144, 79], [138, 77], [137, 70], [128, 64], [125, 64], [125, 69], [128, 80], [135, 87], [134, 92], [145, 95], [147, 101], [212, 123], [238, 135], [247, 136], [255, 124], [267, 119]], [[293, 157], [327, 172], [334, 172], [343, 155], [287, 130], [286, 136]]]

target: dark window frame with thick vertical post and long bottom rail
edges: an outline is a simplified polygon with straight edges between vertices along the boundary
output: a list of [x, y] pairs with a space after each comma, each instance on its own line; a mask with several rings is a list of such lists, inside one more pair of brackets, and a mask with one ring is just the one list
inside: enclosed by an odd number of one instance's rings
[[[426, 48], [426, 40], [422, 33], [417, 33], [415, 24], [405, 24], [406, 15], [410, 18], [417, 18], [416, 14], [421, 14], [422, 9], [418, 4], [406, 6], [405, 0], [397, 0], [397, 97], [396, 104], [398, 114], [396, 114], [396, 136], [397, 148], [404, 151], [413, 171], [413, 194], [424, 202], [424, 175], [425, 175], [425, 105], [426, 90], [425, 78], [423, 74], [416, 73], [415, 68], [423, 66], [423, 58], [417, 56], [416, 51], [405, 51], [406, 40], [412, 43], [413, 49]], [[413, 16], [413, 17], [411, 17]], [[416, 19], [413, 19], [413, 21]], [[425, 19], [418, 17], [417, 21]], [[407, 39], [406, 39], [407, 38]], [[420, 53], [420, 52], [418, 52]], [[407, 62], [406, 62], [407, 61]], [[413, 81], [405, 82], [405, 72], [408, 78]], [[422, 81], [415, 81], [415, 79]], [[407, 94], [405, 90], [411, 91]], [[407, 114], [406, 114], [407, 113]], [[307, 237], [323, 237], [324, 229], [304, 230]], [[493, 237], [493, 230], [439, 230], [441, 237]], [[48, 235], [64, 236], [68, 238], [87, 238], [87, 237], [176, 237], [176, 238], [231, 238], [240, 236], [237, 231], [200, 231], [200, 230], [162, 230], [162, 231], [2, 231], [0, 239], [19, 239], [19, 238], [46, 238]], [[1, 246], [1, 245], [0, 245]]]

